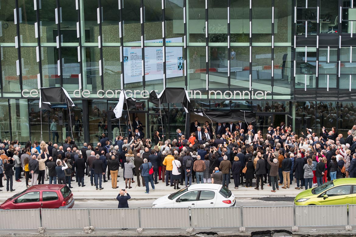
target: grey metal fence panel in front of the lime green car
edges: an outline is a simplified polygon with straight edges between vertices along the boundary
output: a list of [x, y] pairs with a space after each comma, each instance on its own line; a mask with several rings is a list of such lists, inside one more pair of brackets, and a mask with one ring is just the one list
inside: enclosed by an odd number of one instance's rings
[[296, 226], [345, 226], [346, 205], [295, 206]]

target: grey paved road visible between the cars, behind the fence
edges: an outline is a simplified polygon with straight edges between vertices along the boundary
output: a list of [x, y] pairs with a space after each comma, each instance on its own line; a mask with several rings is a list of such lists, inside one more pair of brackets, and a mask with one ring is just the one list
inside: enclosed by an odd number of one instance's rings
[[[129, 200], [130, 208], [150, 208], [154, 199]], [[117, 200], [76, 200], [73, 208], [117, 208]], [[243, 206], [286, 206], [293, 205], [293, 198], [275, 198], [272, 200], [237, 199], [237, 205]]]

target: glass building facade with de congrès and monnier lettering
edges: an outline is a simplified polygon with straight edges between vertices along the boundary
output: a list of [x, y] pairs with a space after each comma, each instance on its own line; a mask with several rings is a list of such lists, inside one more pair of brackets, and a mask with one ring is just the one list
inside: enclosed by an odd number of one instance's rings
[[[346, 134], [355, 38], [353, 0], [0, 0], [0, 137], [52, 140], [52, 119], [60, 141], [80, 121], [79, 143], [126, 134], [135, 116], [147, 137], [205, 122], [147, 102], [166, 87], [186, 88], [195, 108], [256, 112], [264, 133], [286, 120]], [[75, 107], [40, 113], [39, 88], [54, 86]], [[122, 89], [136, 109], [115, 120]]]

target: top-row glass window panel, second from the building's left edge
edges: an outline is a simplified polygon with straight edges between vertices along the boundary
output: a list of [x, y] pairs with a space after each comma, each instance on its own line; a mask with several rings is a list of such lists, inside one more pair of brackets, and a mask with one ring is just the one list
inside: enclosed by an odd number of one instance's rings
[[37, 12], [34, 10], [32, 0], [19, 0], [20, 36], [23, 43], [37, 43], [35, 38], [35, 22]]

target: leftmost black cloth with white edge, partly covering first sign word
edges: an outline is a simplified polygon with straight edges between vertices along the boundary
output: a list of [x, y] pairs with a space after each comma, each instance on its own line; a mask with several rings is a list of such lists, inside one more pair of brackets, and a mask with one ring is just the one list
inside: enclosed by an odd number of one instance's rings
[[63, 87], [46, 87], [40, 89], [40, 108], [51, 110], [51, 103], [66, 103], [74, 106], [68, 92]]

